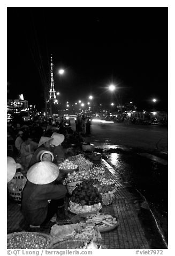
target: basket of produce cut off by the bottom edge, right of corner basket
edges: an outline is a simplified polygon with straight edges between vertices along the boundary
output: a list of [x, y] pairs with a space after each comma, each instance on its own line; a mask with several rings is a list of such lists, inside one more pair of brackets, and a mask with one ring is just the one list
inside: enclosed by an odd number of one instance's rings
[[84, 239], [68, 239], [56, 243], [52, 249], [107, 249], [105, 245]]

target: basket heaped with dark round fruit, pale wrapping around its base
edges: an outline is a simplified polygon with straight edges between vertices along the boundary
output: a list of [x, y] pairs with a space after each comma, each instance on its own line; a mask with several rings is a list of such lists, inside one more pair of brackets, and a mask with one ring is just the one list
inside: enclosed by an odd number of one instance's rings
[[101, 210], [102, 195], [89, 181], [83, 181], [72, 192], [69, 210], [74, 214]]

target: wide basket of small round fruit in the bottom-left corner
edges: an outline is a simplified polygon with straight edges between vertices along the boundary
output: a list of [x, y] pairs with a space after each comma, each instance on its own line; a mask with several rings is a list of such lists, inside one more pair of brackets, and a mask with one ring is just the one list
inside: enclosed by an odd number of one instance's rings
[[48, 234], [39, 232], [14, 232], [7, 234], [7, 249], [48, 249], [53, 246]]

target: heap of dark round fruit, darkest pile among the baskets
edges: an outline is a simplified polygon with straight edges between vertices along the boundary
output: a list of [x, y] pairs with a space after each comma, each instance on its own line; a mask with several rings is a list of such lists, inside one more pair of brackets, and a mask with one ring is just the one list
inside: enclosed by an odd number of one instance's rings
[[92, 184], [83, 181], [73, 190], [70, 200], [80, 205], [93, 205], [100, 203], [102, 196]]

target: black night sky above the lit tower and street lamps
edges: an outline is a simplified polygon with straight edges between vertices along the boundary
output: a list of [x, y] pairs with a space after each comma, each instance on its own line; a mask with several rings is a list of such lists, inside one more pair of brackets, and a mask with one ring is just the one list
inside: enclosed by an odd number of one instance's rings
[[7, 8], [7, 98], [22, 93], [44, 107], [51, 53], [63, 104], [92, 94], [138, 110], [156, 98], [157, 110], [168, 110], [168, 8]]

